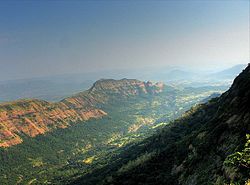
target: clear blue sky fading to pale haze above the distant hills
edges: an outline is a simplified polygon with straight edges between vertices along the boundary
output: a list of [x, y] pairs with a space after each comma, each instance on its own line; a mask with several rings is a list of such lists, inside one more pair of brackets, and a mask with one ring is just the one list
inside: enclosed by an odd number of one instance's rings
[[248, 62], [248, 0], [0, 1], [1, 80]]

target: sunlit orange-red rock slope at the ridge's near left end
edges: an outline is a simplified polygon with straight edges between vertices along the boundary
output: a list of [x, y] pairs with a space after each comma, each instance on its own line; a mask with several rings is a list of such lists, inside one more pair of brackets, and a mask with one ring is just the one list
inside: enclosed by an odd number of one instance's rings
[[92, 107], [74, 109], [63, 102], [19, 100], [0, 105], [0, 147], [22, 142], [21, 133], [35, 137], [55, 128], [66, 128], [70, 122], [100, 118], [106, 113]]

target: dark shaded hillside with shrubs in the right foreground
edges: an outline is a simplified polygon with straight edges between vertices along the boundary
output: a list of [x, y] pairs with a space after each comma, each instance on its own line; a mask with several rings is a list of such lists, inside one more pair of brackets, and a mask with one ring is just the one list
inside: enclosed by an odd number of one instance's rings
[[247, 184], [249, 129], [250, 66], [219, 98], [195, 106], [72, 184]]

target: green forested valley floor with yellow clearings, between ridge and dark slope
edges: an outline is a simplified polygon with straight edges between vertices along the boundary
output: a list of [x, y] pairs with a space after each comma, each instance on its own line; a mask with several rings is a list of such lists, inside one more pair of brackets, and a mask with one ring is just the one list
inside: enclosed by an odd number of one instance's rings
[[[107, 94], [108, 102], [98, 106], [108, 116], [72, 123], [68, 128], [35, 138], [23, 135], [22, 144], [1, 148], [1, 184], [66, 184], [82, 176], [89, 177], [99, 169], [129, 159], [124, 154], [128, 148], [168, 125], [170, 120], [217, 89], [177, 90], [167, 86], [160, 94], [129, 97]], [[153, 155], [155, 153], [143, 154], [120, 172], [151, 159]], [[87, 178], [86, 184], [93, 184], [96, 180], [93, 178]]]

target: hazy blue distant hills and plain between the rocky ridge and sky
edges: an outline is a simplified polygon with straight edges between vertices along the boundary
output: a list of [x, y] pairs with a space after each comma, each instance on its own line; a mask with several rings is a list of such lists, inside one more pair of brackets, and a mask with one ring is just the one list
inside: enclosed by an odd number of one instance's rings
[[100, 78], [136, 78], [143, 81], [162, 81], [175, 86], [201, 87], [206, 85], [228, 86], [245, 64], [233, 66], [220, 72], [193, 71], [185, 68], [157, 68], [110, 70], [86, 74], [65, 74], [44, 78], [9, 80], [0, 82], [0, 102], [23, 98], [60, 101], [71, 94], [87, 90]]

